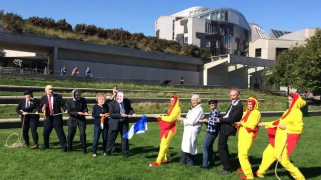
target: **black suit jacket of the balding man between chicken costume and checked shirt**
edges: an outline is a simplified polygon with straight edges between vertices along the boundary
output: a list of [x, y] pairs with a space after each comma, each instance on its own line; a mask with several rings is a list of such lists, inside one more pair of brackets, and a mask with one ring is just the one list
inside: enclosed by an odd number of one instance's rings
[[232, 126], [231, 124], [234, 124], [235, 122], [238, 122], [242, 119], [243, 105], [241, 103], [241, 100], [235, 106], [231, 104], [230, 107], [227, 109], [226, 113], [229, 111], [230, 108], [231, 111], [229, 113], [229, 117], [220, 118], [220, 133], [235, 136], [237, 128], [235, 126]]

